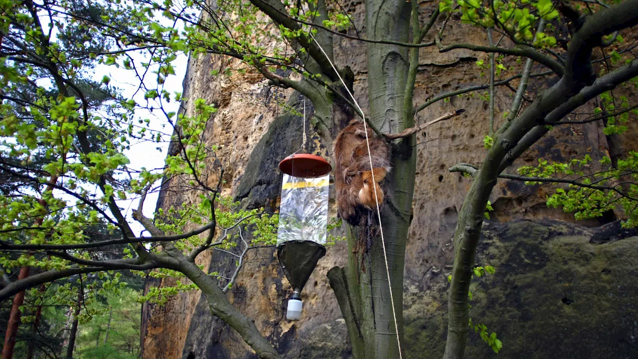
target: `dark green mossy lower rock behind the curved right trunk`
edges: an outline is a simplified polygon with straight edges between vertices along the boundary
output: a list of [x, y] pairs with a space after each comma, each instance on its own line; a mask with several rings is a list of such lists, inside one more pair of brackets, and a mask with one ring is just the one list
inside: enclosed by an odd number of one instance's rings
[[[588, 231], [558, 221], [487, 224], [470, 316], [496, 332], [501, 358], [635, 358], [638, 353], [638, 237], [597, 245]], [[441, 298], [446, 299], [446, 296]], [[440, 358], [445, 306], [406, 315], [408, 358]], [[466, 358], [497, 355], [471, 333]]]

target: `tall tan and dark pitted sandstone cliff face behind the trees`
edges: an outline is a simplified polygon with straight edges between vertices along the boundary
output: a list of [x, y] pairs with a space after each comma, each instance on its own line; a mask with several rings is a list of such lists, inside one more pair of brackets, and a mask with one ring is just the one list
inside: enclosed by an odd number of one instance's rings
[[[362, 29], [363, 4], [350, 6], [350, 11], [355, 11], [355, 24]], [[435, 5], [423, 6], [424, 13], [429, 13]], [[452, 22], [451, 27], [444, 39], [447, 43], [486, 43], [471, 27], [458, 22]], [[340, 40], [335, 54], [338, 65], [348, 65], [355, 73], [355, 96], [366, 109], [366, 79], [371, 74], [366, 70], [365, 45]], [[440, 54], [436, 49], [422, 49], [415, 104], [461, 86], [483, 84], [486, 80], [480, 77], [477, 59], [486, 57], [468, 50]], [[278, 112], [272, 105], [273, 95], [257, 75], [212, 77], [211, 70], [223, 69], [225, 61], [211, 56], [191, 59], [184, 93], [187, 98], [202, 97], [219, 107], [205, 137], [211, 144], [223, 145], [218, 157], [225, 168], [225, 194], [251, 208], [276, 207], [281, 184], [276, 164], [299, 148], [300, 118], [276, 118], [283, 111]], [[278, 95], [298, 111], [304, 106], [295, 93], [279, 90]], [[501, 91], [496, 102], [500, 114], [507, 111], [508, 98]], [[305, 105], [306, 111], [311, 111], [310, 104]], [[482, 138], [487, 133], [487, 105], [478, 96], [450, 98], [419, 114], [419, 122], [424, 123], [458, 108], [466, 112], [431, 126], [427, 137], [418, 135], [414, 217], [406, 251], [403, 303], [404, 346], [410, 348], [406, 351], [409, 358], [436, 358], [443, 352], [447, 275], [454, 252], [451, 239], [457, 213], [470, 188], [470, 179], [447, 169], [458, 162], [480, 165], [484, 156]], [[185, 103], [184, 111], [192, 111], [190, 102]], [[496, 117], [500, 118], [499, 114]], [[630, 132], [635, 134], [635, 128]], [[311, 151], [326, 153], [318, 139], [311, 142]], [[611, 151], [610, 143], [617, 153], [636, 149], [636, 142], [626, 137], [610, 142], [598, 123], [558, 128], [508, 172], [534, 164], [538, 157], [565, 160], [587, 153], [600, 158]], [[209, 183], [216, 183], [216, 176], [211, 173]], [[550, 192], [548, 187], [504, 180], [494, 188], [491, 202], [495, 211], [485, 225], [477, 263], [495, 266], [496, 275], [477, 282], [471, 317], [498, 333], [504, 343], [501, 356], [505, 358], [629, 358], [638, 350], [638, 323], [630, 319], [638, 311], [638, 303], [631, 296], [638, 287], [635, 280], [628, 280], [637, 274], [633, 263], [638, 256], [638, 239], [590, 244], [593, 232], [588, 227], [600, 223], [575, 223], [561, 210], [547, 208], [545, 195]], [[195, 201], [195, 194], [166, 192], [158, 206], [188, 201]], [[255, 319], [283, 357], [348, 358], [345, 323], [325, 277], [332, 266], [343, 266], [346, 257], [345, 243], [328, 248], [304, 289], [302, 321], [285, 320], [291, 289], [274, 249], [250, 254], [228, 296]], [[199, 261], [221, 274], [234, 267], [218, 254], [207, 253]], [[165, 284], [171, 281], [155, 280], [147, 286]], [[197, 291], [179, 294], [167, 305], [145, 305], [143, 320], [145, 358], [254, 357], [228, 326], [209, 314]], [[471, 335], [470, 340], [468, 357], [495, 356], [478, 335]]]

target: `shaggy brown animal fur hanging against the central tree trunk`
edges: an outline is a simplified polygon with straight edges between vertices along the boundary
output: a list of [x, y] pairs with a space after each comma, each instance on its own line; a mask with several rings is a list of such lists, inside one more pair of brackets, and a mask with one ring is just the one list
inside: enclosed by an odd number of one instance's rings
[[[390, 149], [385, 139], [376, 136], [370, 128], [367, 129], [367, 137], [372, 168], [362, 122], [350, 122], [339, 132], [334, 145], [337, 210], [339, 216], [352, 225], [362, 224], [366, 209], [383, 203], [385, 194], [380, 183], [390, 171]], [[374, 181], [372, 171], [375, 174]], [[375, 201], [375, 188], [378, 202]]]

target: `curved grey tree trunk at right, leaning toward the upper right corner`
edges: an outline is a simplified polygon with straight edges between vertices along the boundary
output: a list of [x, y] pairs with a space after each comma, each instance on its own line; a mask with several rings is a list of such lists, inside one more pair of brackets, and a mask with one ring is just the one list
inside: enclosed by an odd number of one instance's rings
[[628, 0], [586, 17], [582, 27], [572, 36], [561, 79], [538, 95], [520, 116], [501, 127], [480, 169], [468, 169], [466, 165], [450, 168], [450, 171], [467, 172], [474, 179], [454, 234], [456, 252], [448, 298], [445, 359], [463, 358], [468, 337], [468, 291], [472, 268], [487, 200], [498, 175], [547, 132], [545, 125], [559, 121], [591, 98], [638, 75], [638, 61], [633, 61], [595, 80], [590, 61], [591, 50], [600, 44], [602, 36], [637, 23], [638, 0]]

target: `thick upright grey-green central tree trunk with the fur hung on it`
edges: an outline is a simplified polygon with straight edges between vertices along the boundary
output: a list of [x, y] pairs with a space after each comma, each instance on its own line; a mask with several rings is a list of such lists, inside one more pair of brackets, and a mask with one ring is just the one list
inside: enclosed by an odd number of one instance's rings
[[[366, 1], [367, 38], [408, 42], [410, 3]], [[411, 91], [406, 95], [409, 51], [406, 47], [367, 44], [370, 120], [385, 133], [398, 133], [413, 125]], [[369, 251], [357, 241], [367, 229], [355, 228], [348, 236], [352, 253], [345, 269], [329, 272], [330, 284], [344, 314], [355, 358], [399, 358], [403, 339], [403, 269], [408, 228], [412, 217], [415, 155], [414, 136], [402, 139], [392, 150], [392, 171], [386, 178], [388, 201], [383, 204], [380, 235], [373, 236]], [[376, 214], [373, 215], [376, 223]], [[366, 246], [364, 246], [366, 247]], [[387, 255], [387, 268], [386, 268]], [[390, 286], [392, 298], [390, 298]], [[392, 303], [394, 300], [394, 305]], [[396, 323], [395, 323], [396, 317]]]

